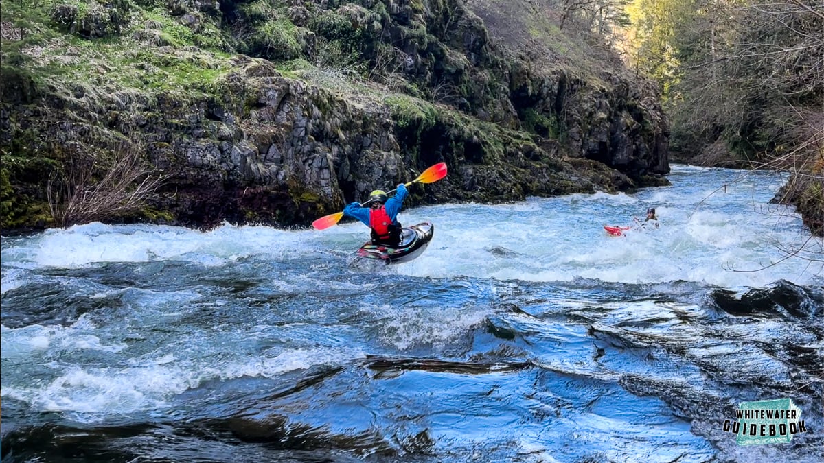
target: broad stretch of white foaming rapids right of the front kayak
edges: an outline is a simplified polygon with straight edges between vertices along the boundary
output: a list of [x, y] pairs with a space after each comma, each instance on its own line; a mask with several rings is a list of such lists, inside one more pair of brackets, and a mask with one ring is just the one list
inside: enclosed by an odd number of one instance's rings
[[[490, 207], [415, 208], [417, 217], [436, 224], [435, 237], [419, 260], [397, 270], [430, 277], [687, 280], [723, 287], [758, 287], [778, 279], [815, 282], [822, 274], [820, 262], [790, 259], [770, 267], [787, 256], [781, 245], [822, 251], [820, 239], [810, 240], [806, 231], [799, 234], [803, 226], [793, 208], [768, 203], [780, 185], [779, 178], [771, 179], [751, 175], [748, 181], [730, 180], [726, 189], [676, 185], [634, 196], [571, 195]], [[751, 206], [742, 209], [742, 201]], [[633, 217], [643, 218], [648, 207], [657, 209], [658, 229], [636, 226], [621, 237], [602, 229], [636, 225]]]

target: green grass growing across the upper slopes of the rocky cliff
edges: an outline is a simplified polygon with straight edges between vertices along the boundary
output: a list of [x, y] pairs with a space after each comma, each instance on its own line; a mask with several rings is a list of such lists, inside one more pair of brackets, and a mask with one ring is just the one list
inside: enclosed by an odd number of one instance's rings
[[[16, 40], [3, 41], [3, 56], [12, 57], [14, 65], [26, 68], [39, 85], [80, 85], [87, 87], [87, 94], [133, 89], [149, 94], [175, 91], [193, 97], [213, 95], [220, 91], [216, 84], [220, 77], [236, 68], [232, 60], [235, 55], [221, 51], [229, 48], [227, 30], [218, 30], [214, 21], [204, 16], [196, 18], [199, 30], [195, 33], [181, 23], [180, 17], [172, 16], [171, 7], [162, 2], [115, 0], [107, 6], [110, 6], [108, 12], [117, 14], [101, 15], [101, 3], [95, 0], [8, 2], [4, 5], [4, 16], [10, 19], [4, 21], [4, 30], [13, 26], [19, 30], [19, 36], [12, 36]], [[415, 11], [423, 11], [422, 3], [413, 6]], [[68, 13], [57, 14], [59, 8]], [[238, 4], [236, 10], [248, 21], [269, 27], [265, 40], [283, 39], [263, 45], [284, 49], [279, 46], [283, 42], [288, 44], [285, 49], [297, 47], [295, 37], [302, 28], [286, 19], [285, 3], [248, 2]], [[381, 5], [372, 10], [356, 6], [337, 12], [325, 11], [324, 17], [336, 21], [326, 21], [329, 24], [324, 23], [319, 29], [326, 35], [326, 40], [318, 42], [319, 63], [310, 63], [305, 58], [279, 60], [276, 61], [279, 72], [331, 91], [363, 109], [387, 108], [401, 129], [409, 124], [431, 126], [439, 118], [450, 119], [461, 128], [478, 127], [471, 131], [481, 138], [485, 138], [484, 134], [497, 133], [499, 129], [491, 127], [494, 124], [482, 129], [480, 126], [487, 125], [483, 121], [459, 115], [444, 105], [436, 109], [436, 105], [419, 99], [417, 96], [422, 92], [399, 72], [378, 69], [384, 73], [372, 76], [366, 69], [347, 65], [353, 63], [353, 47], [358, 40], [363, 40], [367, 29], [352, 30], [350, 19], [341, 16], [341, 12], [366, 18], [364, 24], [372, 30], [379, 30], [382, 18], [388, 17]], [[241, 38], [255, 35], [254, 32], [244, 34], [235, 32]], [[254, 45], [253, 39], [249, 43]], [[384, 48], [386, 53], [393, 51], [391, 47]], [[458, 58], [466, 61], [462, 55]], [[494, 151], [503, 152], [503, 148]]]

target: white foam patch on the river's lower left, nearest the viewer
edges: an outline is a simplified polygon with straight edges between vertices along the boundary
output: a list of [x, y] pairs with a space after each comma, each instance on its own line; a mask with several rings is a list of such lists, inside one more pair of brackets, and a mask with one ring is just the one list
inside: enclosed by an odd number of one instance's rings
[[[112, 414], [129, 414], [162, 409], [170, 398], [199, 387], [204, 381], [231, 380], [242, 376], [277, 377], [284, 372], [310, 367], [336, 366], [364, 358], [357, 348], [316, 347], [278, 348], [250, 355], [223, 353], [222, 334], [190, 334], [173, 348], [171, 339], [162, 349], [176, 352], [148, 352], [134, 355], [134, 344], [100, 339], [86, 334], [91, 325], [85, 321], [68, 327], [30, 325], [19, 329], [2, 327], [2, 358], [20, 369], [40, 364], [41, 376], [48, 381], [26, 384], [15, 372], [3, 375], [2, 397], [22, 400], [39, 409], [72, 412], [73, 419], [95, 422]], [[123, 336], [108, 331], [110, 338]], [[184, 346], [191, 346], [185, 348]], [[77, 356], [96, 350], [107, 354], [105, 367], [64, 366], [51, 358]], [[94, 364], [94, 363], [92, 363]]]

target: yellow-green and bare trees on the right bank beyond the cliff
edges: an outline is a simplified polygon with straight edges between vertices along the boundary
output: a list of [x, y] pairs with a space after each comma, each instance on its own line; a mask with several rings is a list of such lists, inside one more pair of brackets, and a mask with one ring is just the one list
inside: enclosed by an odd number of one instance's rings
[[[662, 86], [672, 150], [789, 171], [775, 201], [824, 236], [824, 3], [634, 0], [627, 11], [626, 56]], [[820, 244], [784, 251], [824, 260]]]

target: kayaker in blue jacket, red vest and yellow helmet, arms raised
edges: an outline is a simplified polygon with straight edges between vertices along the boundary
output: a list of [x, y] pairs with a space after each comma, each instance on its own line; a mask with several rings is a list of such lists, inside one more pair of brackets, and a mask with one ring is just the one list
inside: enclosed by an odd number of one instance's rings
[[357, 218], [372, 230], [372, 244], [398, 246], [400, 222], [397, 217], [408, 194], [404, 184], [398, 185], [391, 198], [383, 190], [376, 189], [369, 194], [365, 207], [357, 201], [349, 203], [344, 208], [344, 215]]

